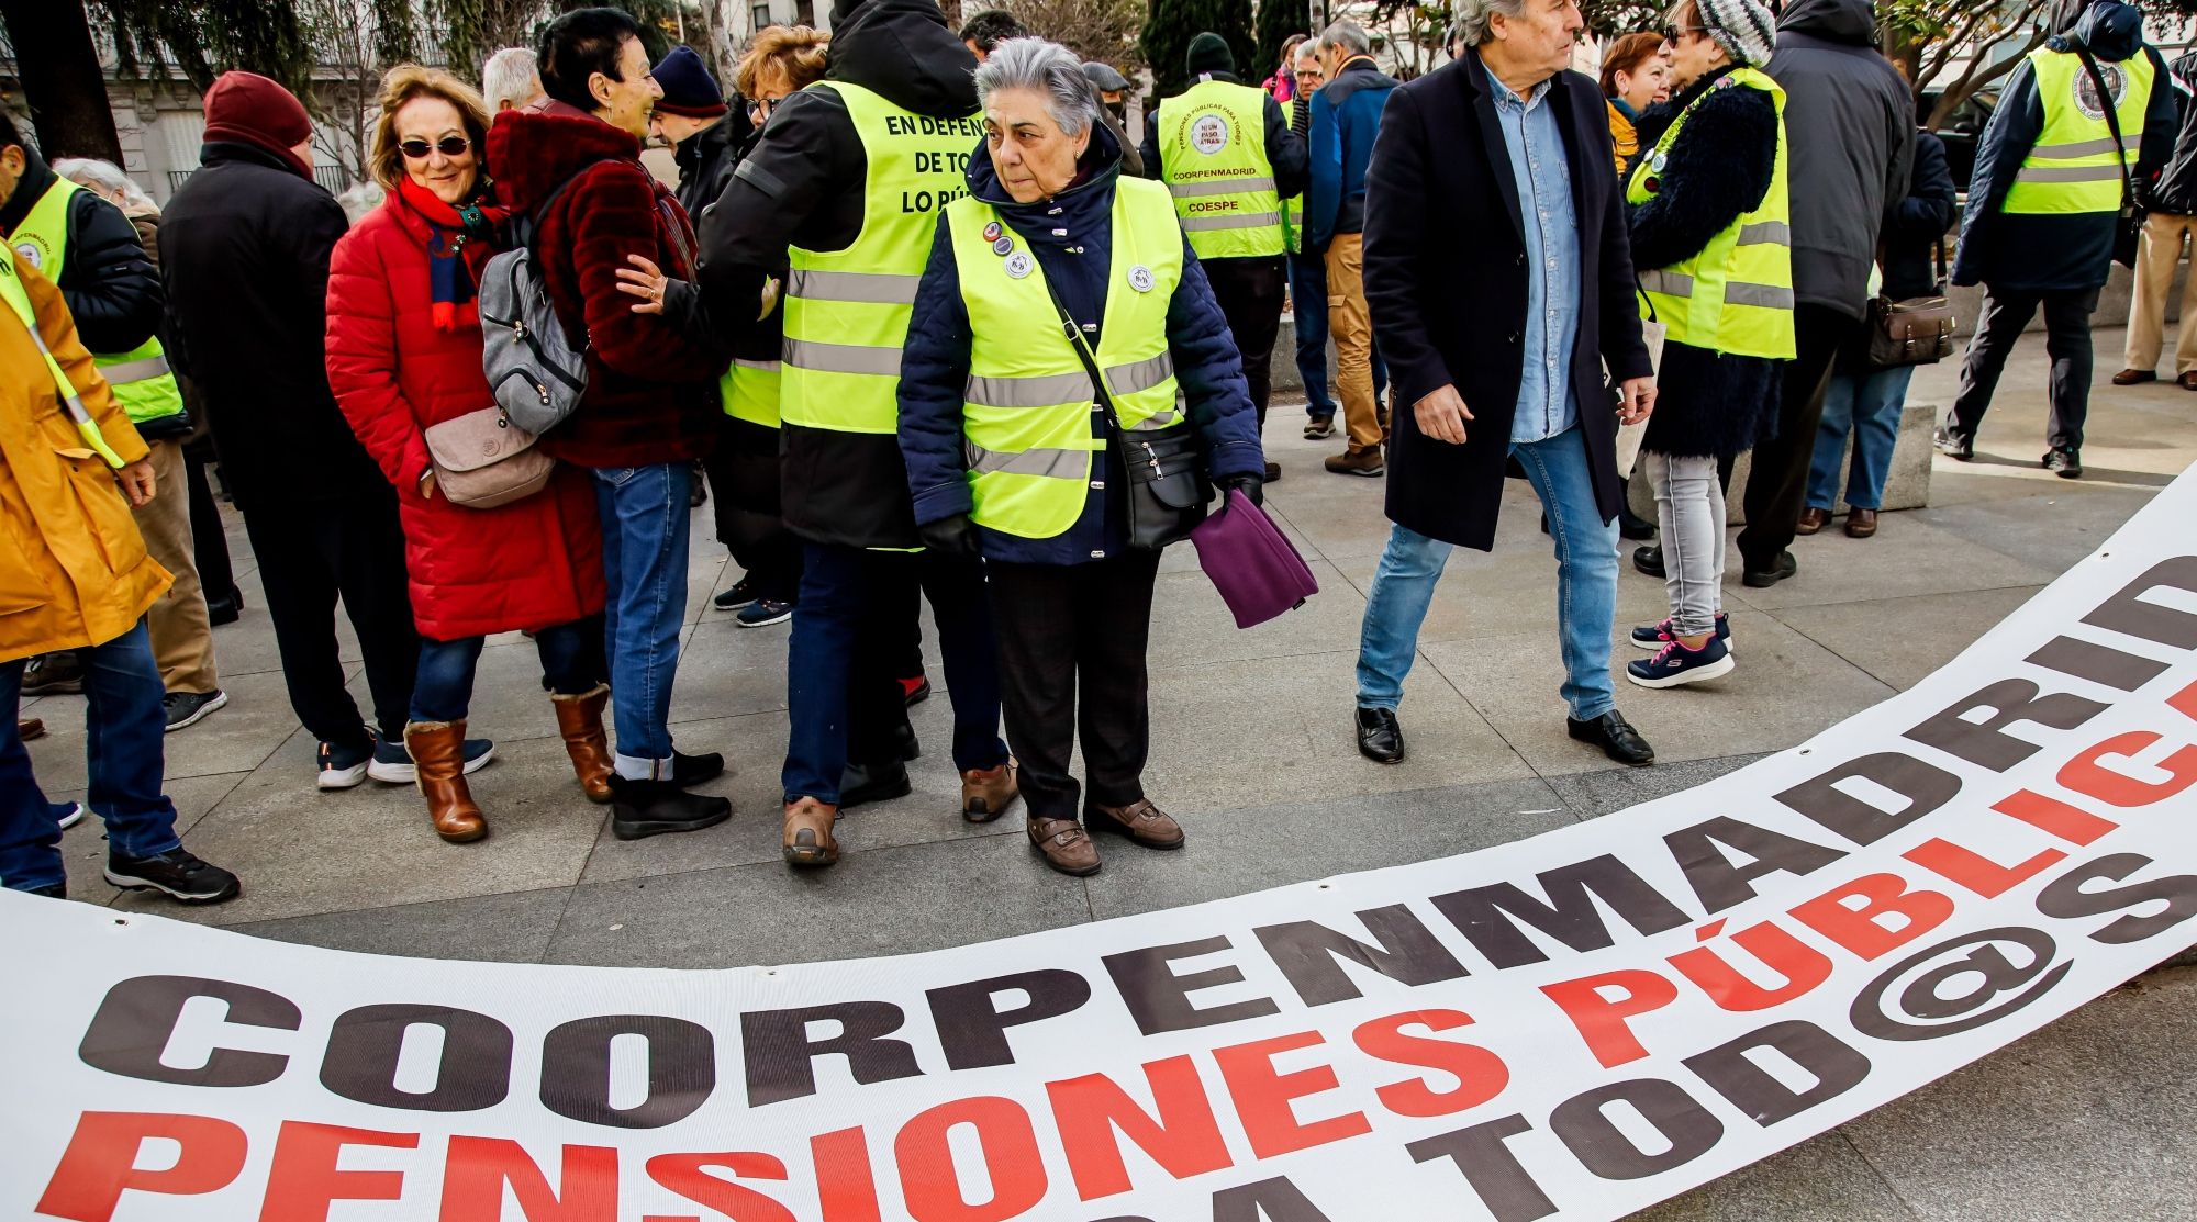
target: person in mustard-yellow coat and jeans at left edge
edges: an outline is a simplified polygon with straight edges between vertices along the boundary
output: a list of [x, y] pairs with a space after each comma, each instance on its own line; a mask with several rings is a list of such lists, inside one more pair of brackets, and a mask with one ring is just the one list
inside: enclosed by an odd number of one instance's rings
[[[237, 877], [193, 857], [160, 793], [160, 670], [145, 609], [167, 571], [145, 554], [130, 506], [156, 492], [145, 442], [92, 367], [59, 290], [0, 246], [0, 703], [15, 712], [24, 659], [83, 662], [86, 802], [105, 820], [105, 879], [182, 901], [237, 895]], [[116, 488], [119, 486], [119, 488]], [[62, 824], [31, 774], [15, 719], [0, 721], [0, 886], [66, 897]]]

